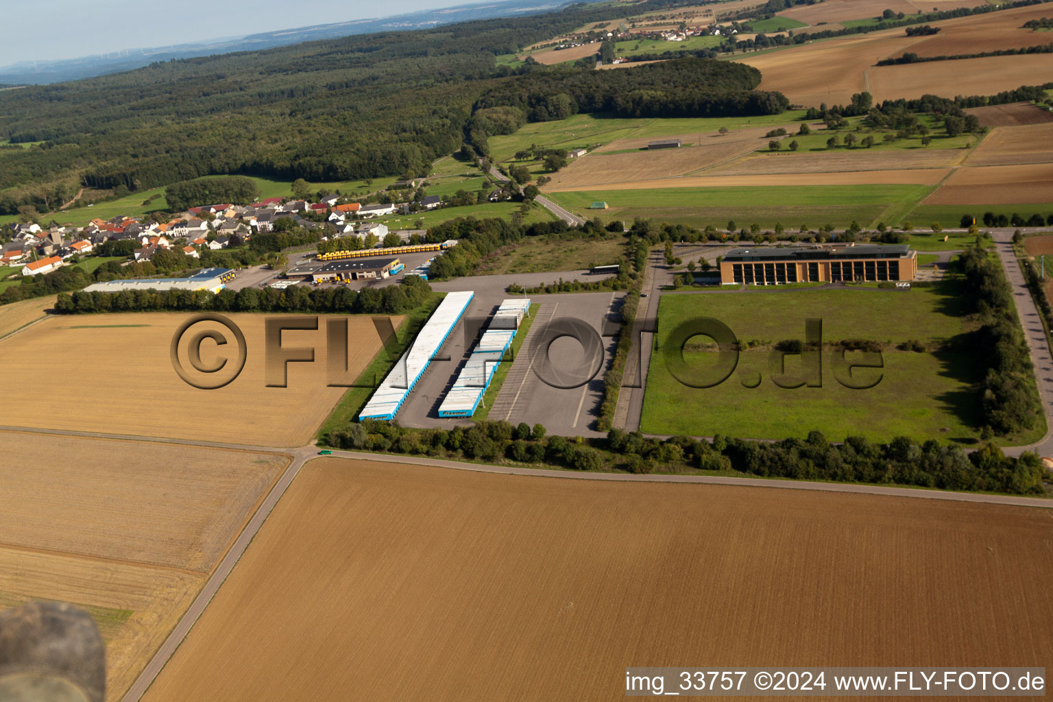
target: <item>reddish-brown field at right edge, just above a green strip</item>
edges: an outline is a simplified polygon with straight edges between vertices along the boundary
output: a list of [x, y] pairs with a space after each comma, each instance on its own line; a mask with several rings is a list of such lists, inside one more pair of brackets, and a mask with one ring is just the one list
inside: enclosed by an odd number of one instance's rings
[[1053, 163], [959, 168], [922, 204], [1047, 203], [1053, 200]]

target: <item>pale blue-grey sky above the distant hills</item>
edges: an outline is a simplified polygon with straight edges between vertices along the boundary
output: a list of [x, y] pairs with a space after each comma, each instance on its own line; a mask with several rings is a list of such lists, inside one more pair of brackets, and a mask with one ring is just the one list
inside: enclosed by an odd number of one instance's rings
[[402, 15], [465, 0], [13, 0], [0, 65]]

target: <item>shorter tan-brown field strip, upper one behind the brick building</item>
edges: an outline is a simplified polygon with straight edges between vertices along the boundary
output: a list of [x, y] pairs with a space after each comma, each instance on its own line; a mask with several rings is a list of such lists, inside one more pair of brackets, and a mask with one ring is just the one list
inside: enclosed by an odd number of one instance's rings
[[[857, 171], [913, 171], [948, 168], [960, 163], [965, 149], [853, 149], [810, 153], [751, 154], [723, 163], [707, 175], [770, 175], [789, 173], [853, 173]], [[907, 181], [905, 181], [907, 182]]]

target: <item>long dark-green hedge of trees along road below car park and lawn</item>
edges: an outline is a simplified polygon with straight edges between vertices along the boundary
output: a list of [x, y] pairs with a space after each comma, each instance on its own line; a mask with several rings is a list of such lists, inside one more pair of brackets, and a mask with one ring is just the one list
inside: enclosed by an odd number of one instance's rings
[[636, 474], [703, 472], [741, 473], [799, 480], [835, 480], [871, 484], [900, 484], [954, 490], [987, 490], [1013, 495], [1042, 494], [1045, 469], [1035, 454], [1004, 456], [993, 445], [971, 454], [936, 441], [918, 444], [906, 437], [874, 443], [849, 437], [832, 443], [819, 432], [807, 439], [774, 443], [692, 437], [667, 440], [638, 432], [612, 429], [603, 439], [545, 435], [544, 427], [525, 423], [477, 422], [452, 429], [410, 429], [397, 422], [365, 420], [333, 432], [327, 443], [395, 454], [466, 458], [476, 461], [514, 461], [554, 465], [575, 470], [624, 470]]

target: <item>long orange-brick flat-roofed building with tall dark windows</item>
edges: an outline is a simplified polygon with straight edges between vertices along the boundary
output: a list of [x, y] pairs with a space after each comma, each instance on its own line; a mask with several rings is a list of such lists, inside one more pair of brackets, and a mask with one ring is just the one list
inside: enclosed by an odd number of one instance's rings
[[916, 274], [917, 252], [907, 244], [742, 247], [720, 261], [723, 285], [902, 281]]

